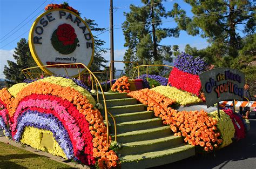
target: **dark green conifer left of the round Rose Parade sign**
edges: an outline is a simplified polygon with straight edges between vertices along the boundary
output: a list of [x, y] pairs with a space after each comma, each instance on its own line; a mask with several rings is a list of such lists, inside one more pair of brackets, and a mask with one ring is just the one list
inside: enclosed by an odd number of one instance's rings
[[16, 63], [7, 60], [8, 66], [4, 65], [3, 71], [7, 79], [5, 80], [5, 84], [8, 87], [16, 83], [22, 83], [26, 79], [25, 75], [22, 73], [23, 69], [36, 66], [29, 50], [29, 44], [25, 38], [19, 40], [14, 55], [12, 56], [15, 58]]

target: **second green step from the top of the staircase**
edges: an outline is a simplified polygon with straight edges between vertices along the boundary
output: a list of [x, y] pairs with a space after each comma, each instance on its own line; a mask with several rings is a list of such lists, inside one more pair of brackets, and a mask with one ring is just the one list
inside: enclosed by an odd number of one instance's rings
[[[100, 100], [102, 105], [104, 105], [103, 100]], [[110, 99], [106, 100], [106, 105], [107, 107], [112, 107], [112, 106], [123, 106], [123, 105], [132, 105], [132, 104], [137, 104], [137, 100], [134, 98], [124, 98], [124, 99]]]

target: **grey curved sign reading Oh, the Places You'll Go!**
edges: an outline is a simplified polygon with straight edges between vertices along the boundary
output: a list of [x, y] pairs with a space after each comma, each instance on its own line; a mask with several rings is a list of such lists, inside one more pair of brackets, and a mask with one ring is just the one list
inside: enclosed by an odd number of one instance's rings
[[199, 75], [205, 94], [206, 105], [210, 107], [223, 100], [242, 100], [245, 75], [230, 68], [217, 68]]

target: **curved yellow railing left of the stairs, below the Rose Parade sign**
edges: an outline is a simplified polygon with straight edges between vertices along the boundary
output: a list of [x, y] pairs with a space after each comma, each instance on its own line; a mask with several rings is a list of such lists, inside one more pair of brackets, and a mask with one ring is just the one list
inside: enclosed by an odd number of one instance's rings
[[[66, 75], [68, 76], [68, 71], [66, 70], [66, 68], [65, 68], [65, 66], [66, 65], [76, 65], [76, 67], [77, 67], [77, 69], [78, 69], [78, 77], [79, 77], [79, 79], [80, 79], [80, 70], [79, 70], [79, 68], [78, 68], [78, 65], [82, 65], [82, 66], [84, 66], [84, 68], [90, 73], [90, 76], [91, 76], [91, 78], [93, 78], [92, 80], [91, 80], [91, 83], [92, 83], [92, 89], [93, 89], [93, 80], [95, 81], [95, 83], [96, 84], [98, 84], [98, 85], [96, 85], [96, 92], [97, 92], [97, 102], [99, 103], [99, 92], [98, 92], [98, 86], [99, 86], [99, 88], [100, 88], [100, 90], [102, 91], [102, 96], [103, 96], [103, 102], [104, 102], [104, 115], [105, 115], [105, 121], [106, 121], [106, 129], [107, 129], [107, 144], [109, 144], [109, 120], [108, 120], [108, 118], [107, 118], [107, 106], [106, 106], [106, 99], [105, 99], [105, 95], [104, 95], [104, 91], [103, 91], [103, 89], [102, 89], [102, 86], [100, 85], [100, 82], [99, 82], [99, 80], [97, 79], [97, 77], [88, 69], [88, 67], [86, 67], [83, 63], [69, 63], [69, 64], [54, 64], [54, 65], [44, 65], [44, 66], [35, 66], [35, 67], [29, 67], [29, 68], [27, 68], [27, 69], [23, 69], [22, 70], [22, 73], [28, 78], [32, 78], [32, 76], [31, 76], [31, 73], [29, 72], [29, 70], [31, 70], [31, 69], [36, 69], [36, 68], [40, 68], [40, 67], [51, 67], [51, 66], [57, 66], [57, 65], [59, 65], [59, 66], [64, 66], [64, 69], [65, 69], [65, 71], [66, 71]], [[45, 75], [48, 75], [48, 73], [46, 73], [45, 72]], [[114, 117], [112, 116], [112, 114], [111, 113], [109, 113], [110, 114], [110, 116], [113, 118], [113, 120], [114, 120]], [[114, 129], [115, 129], [115, 138], [116, 138], [116, 121], [114, 120]]]

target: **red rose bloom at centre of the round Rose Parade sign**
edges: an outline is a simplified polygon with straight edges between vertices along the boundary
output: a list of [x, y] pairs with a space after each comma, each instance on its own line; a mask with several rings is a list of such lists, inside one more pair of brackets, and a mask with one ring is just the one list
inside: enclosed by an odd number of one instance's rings
[[77, 37], [75, 29], [70, 24], [66, 23], [58, 26], [56, 34], [58, 40], [62, 42], [64, 46], [75, 43]]

